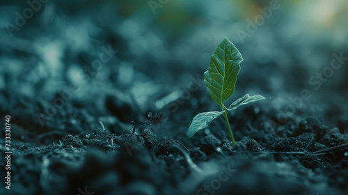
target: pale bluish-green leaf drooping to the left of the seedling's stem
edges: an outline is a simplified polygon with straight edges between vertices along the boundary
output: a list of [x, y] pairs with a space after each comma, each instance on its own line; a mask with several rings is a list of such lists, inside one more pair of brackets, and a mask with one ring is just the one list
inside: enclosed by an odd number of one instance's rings
[[208, 127], [212, 120], [221, 116], [223, 113], [225, 113], [225, 111], [208, 111], [197, 114], [195, 118], [193, 118], [189, 130], [187, 131], [187, 140], [191, 139], [199, 130]]

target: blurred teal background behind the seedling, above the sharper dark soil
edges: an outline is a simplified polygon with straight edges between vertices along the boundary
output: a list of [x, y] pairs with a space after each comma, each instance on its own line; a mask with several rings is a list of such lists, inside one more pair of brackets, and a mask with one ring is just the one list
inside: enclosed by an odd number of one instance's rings
[[[17, 121], [15, 139], [52, 143], [98, 121], [117, 132], [189, 104], [175, 118], [182, 137], [195, 114], [219, 109], [202, 79], [224, 37], [244, 58], [226, 104], [260, 94], [280, 125], [285, 112], [347, 128], [345, 0], [1, 1], [0, 15], [0, 111]], [[333, 69], [335, 54], [346, 60]], [[303, 90], [310, 98], [293, 104]]]

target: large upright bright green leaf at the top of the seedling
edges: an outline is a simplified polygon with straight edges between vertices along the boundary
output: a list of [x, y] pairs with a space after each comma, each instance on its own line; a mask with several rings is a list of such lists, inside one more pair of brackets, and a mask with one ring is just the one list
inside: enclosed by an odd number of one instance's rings
[[223, 102], [235, 93], [235, 83], [242, 55], [230, 40], [224, 38], [216, 47], [204, 72], [204, 82], [210, 97], [224, 108]]

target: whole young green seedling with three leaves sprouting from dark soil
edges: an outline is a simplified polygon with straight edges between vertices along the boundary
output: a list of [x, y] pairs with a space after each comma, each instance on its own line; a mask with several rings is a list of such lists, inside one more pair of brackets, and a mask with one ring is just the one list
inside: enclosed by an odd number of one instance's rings
[[232, 111], [251, 102], [264, 100], [262, 95], [249, 96], [246, 94], [243, 98], [235, 100], [228, 108], [223, 104], [223, 102], [235, 93], [235, 83], [242, 61], [242, 55], [227, 38], [224, 38], [218, 47], [216, 47], [210, 58], [209, 68], [204, 72], [204, 82], [210, 97], [220, 105], [222, 111], [208, 111], [195, 116], [187, 131], [187, 140], [191, 139], [199, 130], [208, 127], [212, 120], [222, 115], [225, 118], [233, 146], [236, 145], [230, 123], [228, 123], [228, 111]]

